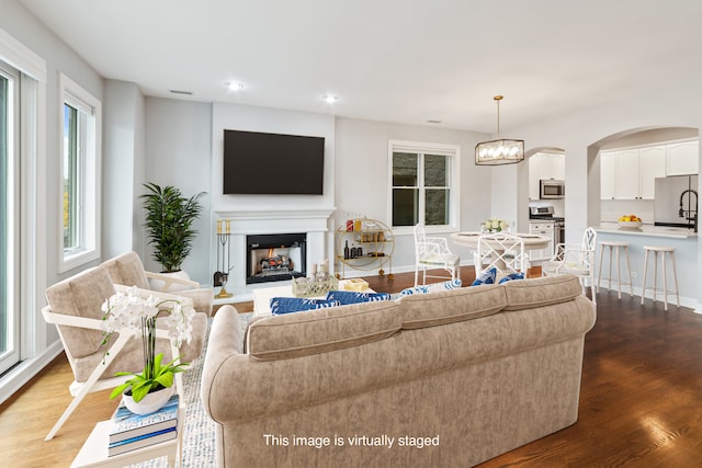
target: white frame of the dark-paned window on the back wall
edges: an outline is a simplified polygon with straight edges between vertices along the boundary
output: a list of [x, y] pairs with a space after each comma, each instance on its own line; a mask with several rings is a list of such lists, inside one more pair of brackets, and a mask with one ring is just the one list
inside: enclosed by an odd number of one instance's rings
[[[449, 224], [441, 226], [427, 226], [427, 232], [457, 232], [461, 226], [461, 147], [458, 145], [446, 145], [437, 142], [420, 142], [405, 140], [388, 140], [387, 142], [387, 167], [388, 167], [388, 196], [387, 196], [387, 219], [393, 225], [393, 153], [394, 152], [417, 152], [429, 155], [445, 155], [450, 159], [450, 181], [449, 181]], [[424, 199], [423, 199], [423, 170], [418, 174], [419, 196], [419, 222], [424, 224]], [[393, 232], [397, 235], [412, 233], [412, 226], [392, 226]]]

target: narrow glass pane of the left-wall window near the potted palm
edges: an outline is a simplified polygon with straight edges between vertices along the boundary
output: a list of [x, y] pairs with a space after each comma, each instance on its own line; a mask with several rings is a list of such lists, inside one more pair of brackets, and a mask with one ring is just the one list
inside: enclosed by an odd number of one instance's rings
[[78, 247], [78, 110], [64, 105], [64, 249]]

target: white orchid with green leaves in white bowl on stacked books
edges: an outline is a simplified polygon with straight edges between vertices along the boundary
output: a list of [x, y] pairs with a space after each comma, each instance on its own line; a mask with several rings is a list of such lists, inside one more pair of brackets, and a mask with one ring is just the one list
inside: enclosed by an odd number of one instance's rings
[[[168, 335], [177, 346], [184, 341], [190, 343], [192, 335], [191, 320], [195, 310], [190, 301], [174, 299], [159, 299], [154, 296], [143, 297], [136, 287], [127, 289], [126, 294], [117, 293], [102, 305], [103, 341], [106, 344], [112, 334], [129, 330], [141, 335], [144, 350], [144, 368], [140, 373], [118, 372], [115, 376], [133, 376], [117, 386], [110, 395], [111, 399], [124, 393], [127, 408], [137, 414], [148, 414], [165, 404], [172, 393], [173, 377], [184, 370], [188, 363], [178, 363], [179, 357], [162, 364], [163, 353], [156, 354], [156, 319], [163, 316]], [[159, 390], [159, 397], [150, 396]], [[148, 398], [147, 398], [148, 397]], [[141, 400], [148, 401], [148, 408], [139, 408]], [[160, 404], [159, 404], [160, 402]], [[133, 404], [136, 403], [136, 404]]]

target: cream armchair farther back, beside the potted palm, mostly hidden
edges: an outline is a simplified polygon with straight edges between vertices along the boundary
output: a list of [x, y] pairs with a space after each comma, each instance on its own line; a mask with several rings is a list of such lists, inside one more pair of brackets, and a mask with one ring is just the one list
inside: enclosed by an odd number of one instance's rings
[[214, 293], [208, 288], [201, 288], [200, 284], [194, 281], [183, 279], [176, 276], [165, 275], [161, 273], [147, 272], [144, 269], [141, 259], [136, 252], [127, 252], [114, 256], [102, 263], [107, 270], [114, 284], [124, 286], [136, 286], [139, 289], [151, 289], [149, 278], [162, 282], [160, 293], [171, 293], [178, 296], [188, 297], [193, 301], [193, 308], [212, 316], [212, 306], [214, 303]]

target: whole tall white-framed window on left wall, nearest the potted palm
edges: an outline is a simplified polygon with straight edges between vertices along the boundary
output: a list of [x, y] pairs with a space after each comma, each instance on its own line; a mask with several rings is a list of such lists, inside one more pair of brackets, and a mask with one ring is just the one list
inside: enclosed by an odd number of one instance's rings
[[61, 267], [98, 259], [100, 101], [66, 76], [61, 82]]

